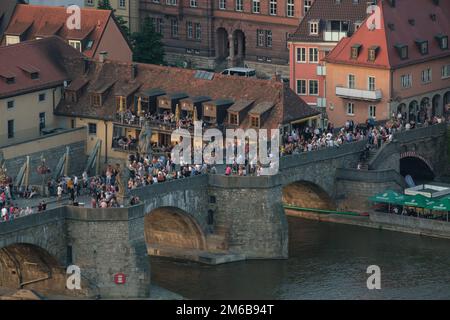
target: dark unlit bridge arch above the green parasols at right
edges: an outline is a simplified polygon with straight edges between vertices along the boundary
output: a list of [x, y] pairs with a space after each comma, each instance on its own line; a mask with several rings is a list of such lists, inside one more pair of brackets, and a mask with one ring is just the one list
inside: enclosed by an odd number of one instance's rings
[[416, 184], [432, 181], [435, 177], [428, 161], [414, 153], [400, 157], [400, 174], [404, 177], [410, 175]]

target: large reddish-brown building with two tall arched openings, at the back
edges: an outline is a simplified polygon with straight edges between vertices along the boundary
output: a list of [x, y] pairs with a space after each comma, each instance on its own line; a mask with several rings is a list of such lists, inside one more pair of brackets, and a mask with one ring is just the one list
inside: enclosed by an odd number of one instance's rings
[[309, 0], [141, 0], [172, 64], [223, 69], [254, 67], [289, 74], [287, 39], [311, 7]]

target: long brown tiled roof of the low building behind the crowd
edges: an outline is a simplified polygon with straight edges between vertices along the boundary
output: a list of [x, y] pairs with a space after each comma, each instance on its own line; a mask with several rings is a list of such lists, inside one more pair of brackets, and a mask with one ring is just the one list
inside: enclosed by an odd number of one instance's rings
[[[141, 92], [158, 88], [167, 94], [186, 92], [189, 97], [208, 96], [211, 100], [252, 100], [255, 101], [254, 106], [271, 102], [274, 107], [268, 110], [268, 117], [262, 123], [263, 128], [278, 128], [280, 124], [319, 114], [280, 81], [221, 74], [214, 74], [212, 80], [205, 80], [195, 77], [196, 70], [150, 64], [137, 64], [137, 77], [131, 79], [131, 68], [129, 63], [107, 60], [102, 64], [93, 61], [85, 75], [90, 80], [87, 90], [76, 103], [61, 101], [56, 108], [56, 114], [112, 120], [117, 112], [115, 96], [121, 95], [123, 87], [133, 88], [133, 85], [140, 85]], [[95, 91], [98, 84], [105, 83], [114, 84], [106, 95], [103, 106], [91, 106], [89, 93]], [[244, 121], [242, 126], [245, 127], [246, 123]]]

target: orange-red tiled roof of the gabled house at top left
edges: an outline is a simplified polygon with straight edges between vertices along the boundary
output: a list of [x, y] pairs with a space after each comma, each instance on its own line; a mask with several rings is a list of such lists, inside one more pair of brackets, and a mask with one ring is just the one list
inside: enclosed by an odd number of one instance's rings
[[[92, 58], [97, 50], [100, 39], [111, 18], [111, 10], [81, 9], [81, 29], [69, 30], [66, 21], [70, 14], [64, 7], [33, 6], [19, 4], [14, 11], [5, 34], [22, 35], [24, 25], [31, 24], [22, 40], [33, 40], [37, 36], [58, 35], [66, 40], [92, 40], [92, 48], [83, 53]], [[59, 28], [60, 27], [60, 28]], [[59, 28], [59, 29], [58, 29]]]

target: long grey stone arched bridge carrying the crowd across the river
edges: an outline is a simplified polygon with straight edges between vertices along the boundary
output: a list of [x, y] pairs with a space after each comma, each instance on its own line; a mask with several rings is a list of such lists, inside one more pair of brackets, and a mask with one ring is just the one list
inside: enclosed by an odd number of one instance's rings
[[[146, 297], [149, 254], [205, 263], [287, 258], [283, 202], [365, 210], [370, 195], [403, 188], [402, 173], [420, 178], [427, 169], [439, 179], [448, 169], [446, 134], [446, 124], [398, 133], [368, 170], [355, 169], [361, 141], [283, 157], [275, 176], [200, 175], [133, 190], [142, 200], [133, 207], [62, 207], [1, 223], [0, 286]], [[81, 268], [82, 290], [65, 288], [70, 264]], [[119, 273], [125, 284], [114, 282]]]

